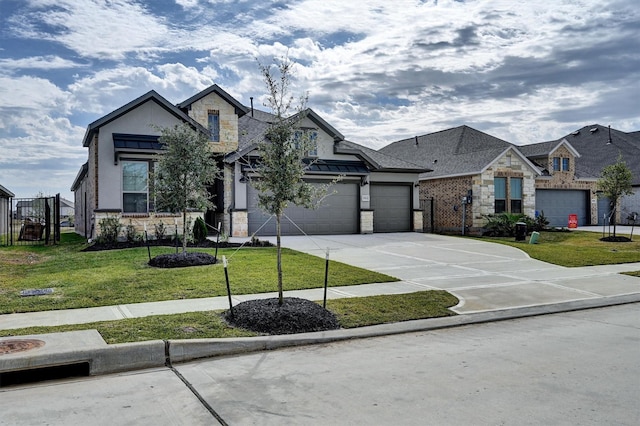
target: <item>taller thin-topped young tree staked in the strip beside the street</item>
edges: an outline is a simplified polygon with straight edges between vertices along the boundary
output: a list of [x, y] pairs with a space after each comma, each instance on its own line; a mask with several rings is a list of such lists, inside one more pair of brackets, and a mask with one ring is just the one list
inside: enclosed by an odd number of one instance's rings
[[278, 268], [278, 303], [284, 303], [282, 288], [281, 223], [284, 210], [290, 203], [314, 208], [326, 193], [326, 187], [313, 186], [303, 180], [309, 164], [303, 159], [313, 149], [314, 141], [298, 124], [305, 118], [306, 96], [300, 98], [295, 114], [289, 115], [294, 101], [289, 93], [293, 63], [288, 58], [276, 60], [274, 64], [259, 64], [267, 86], [267, 103], [275, 120], [259, 142], [259, 160], [253, 166], [257, 177], [250, 183], [258, 191], [258, 205], [276, 219], [276, 246]]

